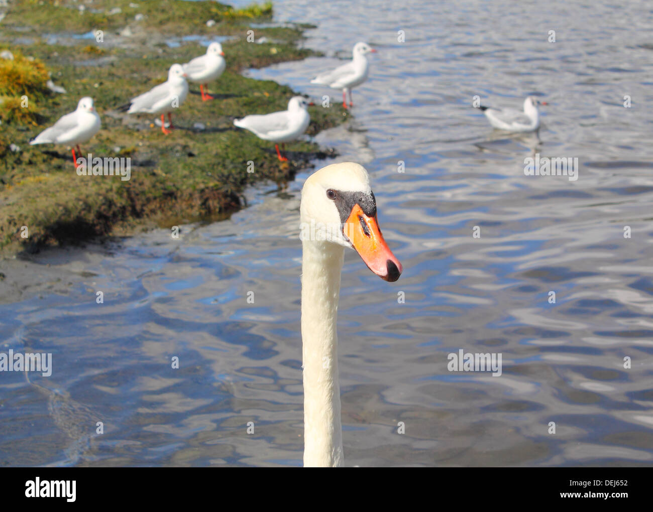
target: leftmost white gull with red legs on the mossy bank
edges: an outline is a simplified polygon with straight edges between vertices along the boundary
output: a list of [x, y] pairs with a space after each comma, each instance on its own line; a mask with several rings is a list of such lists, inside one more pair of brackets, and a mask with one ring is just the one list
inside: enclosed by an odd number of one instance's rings
[[77, 168], [77, 157], [75, 156], [75, 147], [78, 153], [82, 154], [79, 147], [80, 142], [87, 142], [100, 129], [102, 122], [100, 116], [93, 107], [93, 98], [84, 97], [79, 100], [77, 110], [67, 113], [53, 126], [40, 132], [40, 134], [30, 142], [34, 144], [70, 144], [72, 145], [72, 162]]

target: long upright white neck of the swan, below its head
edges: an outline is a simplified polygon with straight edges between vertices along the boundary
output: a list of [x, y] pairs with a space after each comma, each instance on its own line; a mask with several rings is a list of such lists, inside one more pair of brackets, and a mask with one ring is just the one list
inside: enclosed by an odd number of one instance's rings
[[343, 462], [338, 381], [338, 297], [344, 248], [303, 241], [304, 466]]

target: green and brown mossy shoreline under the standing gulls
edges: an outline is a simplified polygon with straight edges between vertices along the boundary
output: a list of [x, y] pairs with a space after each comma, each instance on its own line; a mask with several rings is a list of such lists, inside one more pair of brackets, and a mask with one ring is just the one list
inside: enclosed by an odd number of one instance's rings
[[[26, 83], [23, 91], [3, 92], [0, 84], [0, 252], [226, 217], [242, 207], [248, 185], [284, 183], [312, 160], [328, 157], [315, 143], [298, 141], [287, 145], [290, 161], [278, 162], [274, 144], [232, 125], [249, 113], [283, 110], [295, 95], [278, 83], [246, 78], [242, 70], [314, 55], [300, 48], [304, 26], [261, 28], [271, 14], [269, 4], [235, 10], [212, 1], [10, 3], [0, 22], [0, 51], [39, 67], [37, 80], [44, 66], [67, 93], [40, 83], [35, 90]], [[101, 42], [86, 36], [99, 30]], [[152, 125], [154, 115], [118, 112], [129, 98], [164, 82], [170, 65], [206, 52], [198, 42], [183, 40], [189, 36], [229, 37], [222, 41], [227, 70], [208, 87], [215, 99], [202, 102], [199, 86], [191, 83], [189, 97], [172, 116], [176, 129], [167, 136]], [[24, 96], [27, 108], [16, 104]], [[83, 155], [131, 158], [129, 181], [78, 176], [70, 148], [29, 145], [84, 96], [94, 98], [103, 126], [82, 145]], [[309, 135], [348, 115], [338, 104], [311, 107], [310, 114]], [[247, 162], [253, 162], [253, 172], [247, 172]]]

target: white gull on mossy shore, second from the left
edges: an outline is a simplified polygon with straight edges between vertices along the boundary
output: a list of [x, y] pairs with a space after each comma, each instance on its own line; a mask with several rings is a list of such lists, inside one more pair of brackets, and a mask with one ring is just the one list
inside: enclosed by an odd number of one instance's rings
[[163, 115], [168, 113], [168, 121], [170, 121], [170, 128], [172, 128], [172, 119], [170, 119], [170, 112], [174, 108], [178, 108], [183, 100], [188, 95], [188, 82], [186, 82], [186, 74], [180, 64], [173, 64], [168, 71], [168, 80], [163, 82], [147, 93], [136, 96], [131, 100], [129, 105], [121, 107], [119, 110], [126, 110], [127, 113], [160, 113], [161, 114], [161, 131], [166, 135], [170, 130], [166, 130]]

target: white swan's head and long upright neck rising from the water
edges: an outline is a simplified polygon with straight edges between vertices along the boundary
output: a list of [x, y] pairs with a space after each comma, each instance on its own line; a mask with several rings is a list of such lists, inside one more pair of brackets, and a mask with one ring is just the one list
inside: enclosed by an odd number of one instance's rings
[[304, 368], [304, 466], [342, 466], [340, 382], [336, 320], [345, 247], [386, 281], [402, 264], [377, 223], [366, 170], [354, 162], [313, 173], [302, 188], [302, 366]]

